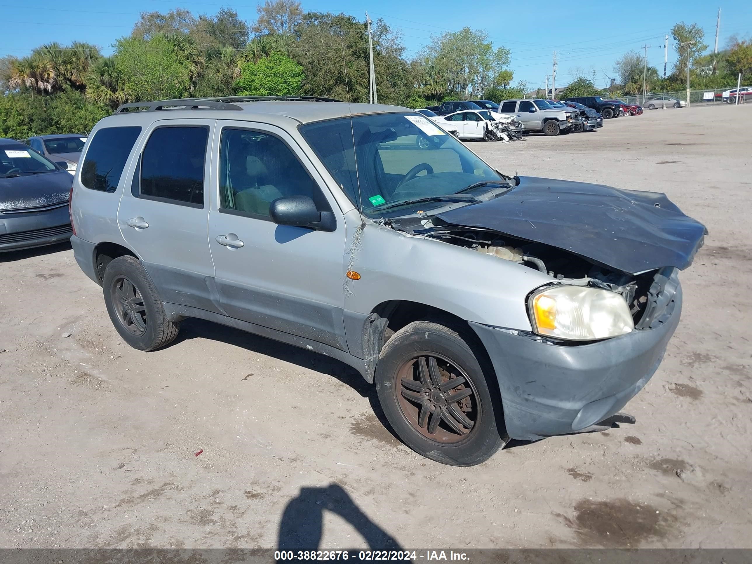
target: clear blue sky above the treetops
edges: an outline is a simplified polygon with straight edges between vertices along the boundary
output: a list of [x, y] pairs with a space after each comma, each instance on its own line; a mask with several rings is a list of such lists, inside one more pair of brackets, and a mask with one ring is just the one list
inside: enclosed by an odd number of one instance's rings
[[[0, 0], [0, 56], [28, 55], [33, 47], [49, 41], [69, 43], [89, 41], [111, 53], [115, 39], [128, 35], [141, 11], [170, 11], [186, 8], [194, 14], [213, 14], [223, 6], [238, 11], [253, 22], [256, 2], [242, 4], [220, 2], [174, 2], [173, 0], [79, 0], [77, 2], [13, 2]], [[640, 2], [651, 10], [630, 8], [627, 2], [588, 4], [550, 2], [547, 11], [541, 4], [529, 2], [400, 2], [399, 0], [302, 0], [307, 11], [345, 12], [362, 18], [368, 10], [371, 18], [384, 18], [399, 29], [408, 55], [417, 53], [432, 34], [470, 26], [486, 29], [496, 46], [512, 50], [511, 68], [515, 80], [526, 80], [529, 87], [544, 85], [551, 73], [553, 51], [557, 51], [559, 70], [556, 85], [565, 85], [573, 75], [584, 71], [596, 74], [598, 86], [608, 86], [614, 77], [614, 60], [628, 50], [647, 49], [648, 61], [663, 71], [663, 38], [678, 21], [698, 23], [705, 29], [705, 43], [713, 46], [717, 10], [721, 8], [719, 48], [732, 35], [752, 35], [752, 5], [748, 0], [733, 0], [711, 5], [699, 0]], [[652, 9], [656, 7], [656, 9]], [[622, 7], [622, 8], [619, 8]], [[608, 13], [607, 13], [608, 10]], [[545, 14], [549, 14], [546, 16]], [[567, 22], [567, 24], [559, 23]], [[676, 53], [669, 39], [669, 72]]]

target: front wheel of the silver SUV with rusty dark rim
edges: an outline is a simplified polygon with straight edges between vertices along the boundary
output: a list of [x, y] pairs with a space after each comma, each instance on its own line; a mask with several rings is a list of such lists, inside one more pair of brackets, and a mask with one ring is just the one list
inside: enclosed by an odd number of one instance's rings
[[480, 464], [505, 443], [493, 368], [484, 369], [472, 344], [447, 326], [414, 321], [387, 341], [376, 365], [390, 425], [408, 447], [442, 464]]

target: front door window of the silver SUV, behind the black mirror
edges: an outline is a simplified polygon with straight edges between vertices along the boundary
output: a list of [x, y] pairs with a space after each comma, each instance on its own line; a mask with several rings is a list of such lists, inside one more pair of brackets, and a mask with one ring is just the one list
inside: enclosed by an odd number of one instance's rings
[[287, 196], [308, 196], [314, 202], [323, 196], [290, 147], [268, 133], [223, 129], [220, 211], [268, 219], [271, 202]]

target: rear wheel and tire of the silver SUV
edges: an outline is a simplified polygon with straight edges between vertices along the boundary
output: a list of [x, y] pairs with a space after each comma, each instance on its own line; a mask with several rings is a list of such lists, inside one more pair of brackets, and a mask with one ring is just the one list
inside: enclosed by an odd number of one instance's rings
[[133, 256], [119, 256], [107, 265], [102, 280], [105, 305], [123, 341], [138, 350], [156, 350], [177, 337], [147, 271]]

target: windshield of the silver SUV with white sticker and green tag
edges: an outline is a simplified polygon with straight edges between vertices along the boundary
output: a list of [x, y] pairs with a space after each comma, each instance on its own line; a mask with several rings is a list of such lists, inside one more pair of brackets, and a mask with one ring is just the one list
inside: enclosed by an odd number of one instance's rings
[[381, 215], [379, 206], [506, 182], [453, 135], [415, 114], [344, 117], [299, 129], [350, 201], [362, 202], [371, 217]]

